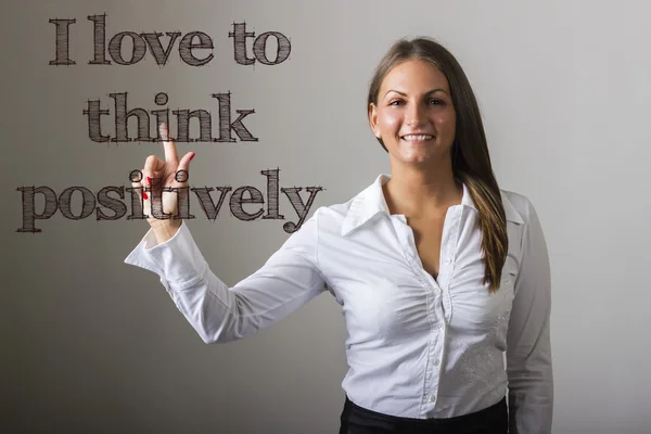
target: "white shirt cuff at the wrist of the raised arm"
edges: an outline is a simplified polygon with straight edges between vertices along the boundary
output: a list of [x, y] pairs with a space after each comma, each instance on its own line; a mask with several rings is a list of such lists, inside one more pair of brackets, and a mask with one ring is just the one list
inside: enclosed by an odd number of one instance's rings
[[150, 270], [176, 290], [195, 284], [204, 278], [208, 266], [183, 220], [169, 240], [157, 244], [153, 230], [126, 257], [125, 264]]

